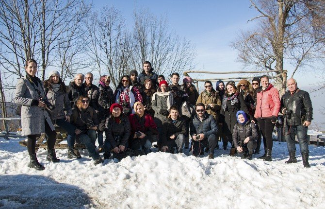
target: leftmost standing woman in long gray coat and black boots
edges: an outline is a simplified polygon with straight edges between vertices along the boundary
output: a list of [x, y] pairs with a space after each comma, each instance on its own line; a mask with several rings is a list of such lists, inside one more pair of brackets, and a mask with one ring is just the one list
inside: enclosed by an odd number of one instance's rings
[[38, 134], [46, 133], [48, 136], [48, 155], [46, 159], [52, 162], [60, 161], [56, 158], [54, 144], [56, 131], [46, 110], [47, 105], [42, 101], [46, 99], [46, 94], [42, 81], [35, 76], [37, 62], [28, 59], [25, 65], [26, 76], [17, 82], [15, 103], [21, 106], [21, 126], [22, 135], [27, 135], [27, 149], [30, 156], [28, 167], [36, 170], [44, 170], [35, 153], [36, 137]]

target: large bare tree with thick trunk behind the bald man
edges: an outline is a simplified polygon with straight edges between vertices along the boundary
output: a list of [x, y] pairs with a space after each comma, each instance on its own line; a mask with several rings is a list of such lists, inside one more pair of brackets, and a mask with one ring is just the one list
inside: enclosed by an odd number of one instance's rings
[[[324, 49], [324, 34], [315, 35], [313, 17], [324, 10], [324, 0], [251, 0], [252, 7], [260, 16], [258, 26], [250, 32], [241, 32], [240, 37], [231, 45], [239, 51], [239, 61], [245, 67], [260, 70], [284, 70], [283, 63], [288, 61], [294, 73], [312, 58], [321, 57]], [[324, 6], [323, 6], [324, 7]], [[277, 88], [283, 94], [286, 89], [285, 72], [276, 78]]]

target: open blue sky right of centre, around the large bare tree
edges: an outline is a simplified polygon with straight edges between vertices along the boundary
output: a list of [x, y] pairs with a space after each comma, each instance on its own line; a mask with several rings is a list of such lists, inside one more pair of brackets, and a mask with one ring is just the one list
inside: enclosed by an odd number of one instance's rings
[[[249, 30], [255, 27], [257, 21], [247, 20], [259, 16], [254, 8], [250, 7], [249, 0], [94, 0], [95, 9], [104, 5], [114, 5], [130, 29], [133, 25], [132, 13], [135, 8], [144, 8], [146, 12], [156, 16], [165, 16], [170, 30], [185, 37], [195, 45], [197, 51], [195, 70], [232, 71], [242, 70], [242, 64], [237, 62], [237, 51], [229, 47], [240, 30]], [[308, 90], [311, 84], [319, 81], [320, 76], [315, 71], [323, 66], [313, 66], [295, 73], [294, 78], [298, 87]], [[291, 76], [292, 69], [284, 65]], [[319, 72], [319, 71], [318, 71]], [[196, 77], [197, 75], [193, 75]], [[231, 76], [233, 77], [234, 74]], [[200, 78], [215, 78], [211, 74], [200, 75]], [[227, 75], [220, 75], [227, 77]], [[319, 109], [325, 99], [321, 92], [310, 95], [314, 105], [315, 121], [324, 121]], [[324, 125], [321, 125], [324, 127]]]

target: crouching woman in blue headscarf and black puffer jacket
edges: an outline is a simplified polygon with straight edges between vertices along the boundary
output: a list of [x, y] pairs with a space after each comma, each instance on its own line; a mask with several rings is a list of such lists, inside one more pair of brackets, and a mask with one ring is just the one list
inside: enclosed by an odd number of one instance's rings
[[244, 111], [240, 110], [236, 115], [237, 123], [234, 126], [232, 140], [238, 154], [244, 154], [242, 158], [252, 159], [259, 137], [256, 126], [248, 120]]

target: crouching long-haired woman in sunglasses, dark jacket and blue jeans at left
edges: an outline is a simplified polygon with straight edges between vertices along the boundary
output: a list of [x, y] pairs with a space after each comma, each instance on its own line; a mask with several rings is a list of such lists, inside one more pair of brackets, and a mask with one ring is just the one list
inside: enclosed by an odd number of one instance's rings
[[96, 130], [98, 129], [98, 118], [95, 110], [89, 106], [89, 98], [81, 95], [77, 101], [77, 108], [73, 110], [70, 122], [77, 128], [75, 134], [68, 136], [68, 156], [69, 158], [77, 158], [74, 153], [75, 139], [84, 144], [89, 155], [95, 160], [95, 165], [104, 162], [96, 151], [95, 142], [97, 139]]

